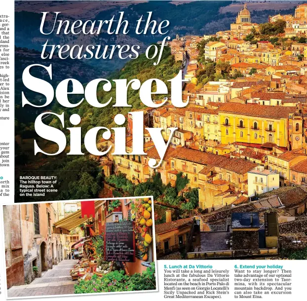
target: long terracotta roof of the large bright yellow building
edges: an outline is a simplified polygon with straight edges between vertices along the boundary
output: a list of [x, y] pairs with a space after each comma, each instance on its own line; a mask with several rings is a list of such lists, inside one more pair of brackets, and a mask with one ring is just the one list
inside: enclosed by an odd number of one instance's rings
[[[255, 108], [257, 106], [257, 110]], [[273, 119], [288, 118], [289, 113], [295, 113], [295, 107], [273, 107], [273, 106], [259, 106], [253, 104], [238, 104], [226, 103], [220, 108], [220, 112], [235, 113], [248, 116], [267, 117]]]

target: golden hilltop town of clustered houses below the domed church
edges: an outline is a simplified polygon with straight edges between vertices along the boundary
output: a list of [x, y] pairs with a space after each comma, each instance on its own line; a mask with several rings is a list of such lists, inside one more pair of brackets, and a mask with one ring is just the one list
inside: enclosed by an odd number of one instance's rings
[[[185, 108], [144, 109], [145, 126], [177, 127], [162, 164], [146, 155], [96, 158], [118, 191], [154, 195], [158, 257], [291, 256], [307, 247], [307, 4], [230, 30], [176, 36]], [[161, 101], [161, 100], [157, 100]], [[132, 151], [128, 114], [126, 150]], [[100, 141], [100, 148], [114, 141]], [[150, 194], [149, 194], [150, 193]], [[161, 209], [162, 208], [162, 209]], [[179, 213], [178, 213], [179, 212]]]

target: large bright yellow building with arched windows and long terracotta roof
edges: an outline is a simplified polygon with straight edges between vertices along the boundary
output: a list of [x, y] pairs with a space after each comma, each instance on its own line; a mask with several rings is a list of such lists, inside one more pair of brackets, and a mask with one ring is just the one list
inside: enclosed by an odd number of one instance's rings
[[288, 120], [295, 112], [293, 107], [225, 104], [219, 111], [221, 142], [269, 142], [288, 148]]

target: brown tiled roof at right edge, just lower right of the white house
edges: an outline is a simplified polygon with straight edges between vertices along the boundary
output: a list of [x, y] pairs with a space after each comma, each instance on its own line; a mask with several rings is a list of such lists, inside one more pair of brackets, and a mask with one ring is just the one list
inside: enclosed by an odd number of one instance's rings
[[277, 195], [283, 205], [291, 207], [307, 200], [307, 192], [299, 187], [281, 187], [259, 195], [259, 198], [265, 198]]

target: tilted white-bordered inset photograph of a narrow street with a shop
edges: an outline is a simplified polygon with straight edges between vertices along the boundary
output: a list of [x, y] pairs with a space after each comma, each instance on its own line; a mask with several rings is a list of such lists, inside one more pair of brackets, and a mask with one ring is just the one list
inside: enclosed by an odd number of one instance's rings
[[157, 290], [152, 202], [3, 205], [7, 298]]

